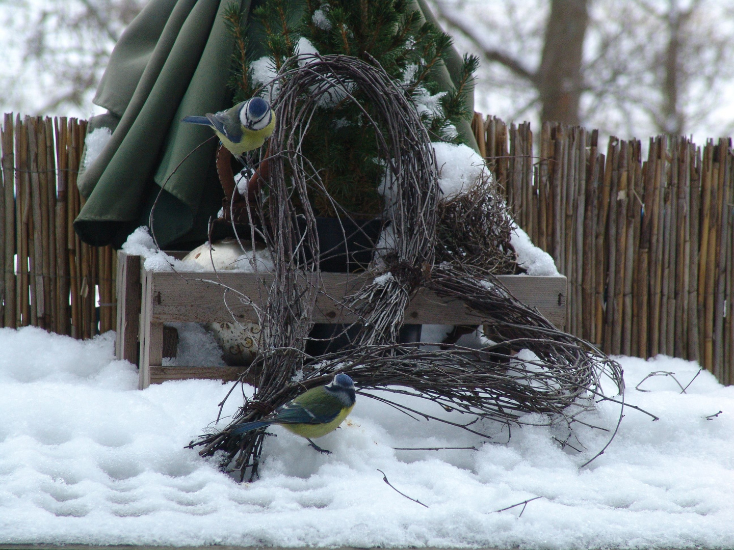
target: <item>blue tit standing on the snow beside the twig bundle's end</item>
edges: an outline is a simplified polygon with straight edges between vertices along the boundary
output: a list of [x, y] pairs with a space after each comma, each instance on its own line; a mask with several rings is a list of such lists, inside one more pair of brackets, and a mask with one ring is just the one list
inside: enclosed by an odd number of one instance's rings
[[308, 392], [294, 397], [271, 414], [255, 422], [244, 422], [233, 428], [231, 433], [245, 433], [271, 424], [280, 424], [286, 430], [305, 437], [311, 447], [319, 452], [330, 452], [321, 449], [312, 437], [325, 436], [344, 421], [355, 408], [355, 383], [348, 375], [336, 375], [326, 386], [311, 388]]

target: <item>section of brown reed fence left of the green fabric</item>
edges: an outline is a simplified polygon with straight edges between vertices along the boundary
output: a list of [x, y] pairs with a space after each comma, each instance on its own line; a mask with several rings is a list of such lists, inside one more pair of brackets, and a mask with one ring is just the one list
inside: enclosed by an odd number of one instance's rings
[[15, 117], [2, 125], [0, 326], [75, 338], [115, 329], [117, 254], [81, 243], [72, 224], [87, 122]]

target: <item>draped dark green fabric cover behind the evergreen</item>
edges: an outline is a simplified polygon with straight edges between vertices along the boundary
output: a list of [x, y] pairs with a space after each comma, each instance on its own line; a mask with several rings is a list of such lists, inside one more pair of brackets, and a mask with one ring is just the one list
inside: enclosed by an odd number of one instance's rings
[[[78, 180], [86, 203], [74, 228], [84, 242], [120, 246], [136, 227], [148, 225], [154, 203], [159, 246], [185, 248], [206, 241], [208, 219], [217, 215], [223, 197], [215, 166], [217, 140], [206, 141], [213, 135], [208, 128], [180, 120], [231, 106], [227, 80], [233, 40], [221, 16], [231, 1], [150, 0], [120, 37], [94, 99], [109, 112], [93, 117], [87, 129], [106, 126], [112, 138]], [[249, 14], [251, 1], [239, 1]], [[424, 0], [414, 1], [435, 23]], [[253, 54], [259, 56], [262, 32], [255, 21], [250, 21], [250, 34]], [[435, 71], [442, 89], [448, 89], [460, 65], [452, 51], [448, 67]], [[471, 95], [468, 101], [473, 106]], [[469, 123], [458, 130], [476, 148]]]

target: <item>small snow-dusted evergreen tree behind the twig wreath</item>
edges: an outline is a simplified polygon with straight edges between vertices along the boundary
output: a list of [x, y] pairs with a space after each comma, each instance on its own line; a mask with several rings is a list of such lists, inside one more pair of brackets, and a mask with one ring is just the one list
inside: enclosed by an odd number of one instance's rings
[[[265, 48], [276, 70], [294, 55], [303, 37], [319, 54], [355, 56], [380, 66], [404, 89], [416, 106], [429, 135], [435, 141], [460, 143], [454, 122], [468, 118], [465, 88], [478, 65], [465, 56], [461, 78], [449, 92], [438, 92], [432, 78], [446, 62], [451, 37], [431, 23], [422, 21], [407, 0], [305, 0], [299, 23], [291, 24], [294, 10], [288, 0], [266, 0], [254, 10], [265, 33]], [[252, 69], [247, 41], [236, 8], [226, 15], [236, 42], [230, 85], [235, 100], [252, 95]], [[350, 90], [360, 106], [380, 120], [374, 106]], [[374, 128], [363, 123], [363, 112], [352, 100], [324, 104], [311, 121], [304, 155], [319, 169], [330, 197], [352, 216], [374, 217], [382, 211], [377, 187], [384, 166], [379, 161]], [[335, 216], [327, 197], [314, 192], [311, 201], [321, 216]]]

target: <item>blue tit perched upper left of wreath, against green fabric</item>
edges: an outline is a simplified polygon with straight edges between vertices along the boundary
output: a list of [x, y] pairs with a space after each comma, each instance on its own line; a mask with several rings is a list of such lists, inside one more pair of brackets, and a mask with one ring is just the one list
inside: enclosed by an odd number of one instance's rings
[[[263, 98], [250, 98], [231, 109], [206, 117], [183, 117], [181, 122], [208, 126], [237, 158], [260, 147], [275, 129], [275, 113]], [[244, 163], [243, 163], [244, 164]]]

